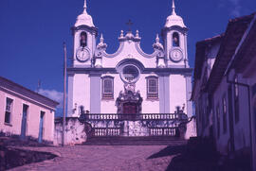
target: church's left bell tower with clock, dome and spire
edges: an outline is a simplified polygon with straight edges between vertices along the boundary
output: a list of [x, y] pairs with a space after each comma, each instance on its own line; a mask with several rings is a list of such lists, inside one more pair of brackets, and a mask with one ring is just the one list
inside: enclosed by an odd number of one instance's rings
[[98, 28], [94, 26], [92, 17], [87, 13], [84, 0], [83, 12], [77, 17], [72, 27], [74, 36], [73, 67], [92, 67], [92, 59], [96, 49]]

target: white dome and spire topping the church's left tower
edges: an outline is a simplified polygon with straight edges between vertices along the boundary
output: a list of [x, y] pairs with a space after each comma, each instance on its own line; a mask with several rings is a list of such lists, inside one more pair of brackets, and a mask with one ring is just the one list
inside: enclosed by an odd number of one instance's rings
[[86, 0], [84, 0], [83, 12], [78, 16], [75, 26], [94, 26], [92, 17], [87, 13]]

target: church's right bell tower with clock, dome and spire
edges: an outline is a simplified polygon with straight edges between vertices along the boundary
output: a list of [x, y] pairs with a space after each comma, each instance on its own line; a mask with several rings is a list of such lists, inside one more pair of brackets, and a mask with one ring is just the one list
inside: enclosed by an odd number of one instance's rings
[[189, 68], [187, 32], [183, 19], [175, 12], [173, 0], [172, 14], [166, 19], [166, 24], [162, 29], [165, 56], [168, 67]]

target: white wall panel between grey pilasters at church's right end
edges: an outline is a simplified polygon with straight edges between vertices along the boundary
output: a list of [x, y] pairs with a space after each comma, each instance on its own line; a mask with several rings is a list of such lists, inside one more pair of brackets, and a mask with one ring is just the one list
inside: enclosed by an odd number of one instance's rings
[[176, 107], [183, 107], [187, 110], [186, 78], [182, 75], [170, 75], [170, 112], [174, 113]]

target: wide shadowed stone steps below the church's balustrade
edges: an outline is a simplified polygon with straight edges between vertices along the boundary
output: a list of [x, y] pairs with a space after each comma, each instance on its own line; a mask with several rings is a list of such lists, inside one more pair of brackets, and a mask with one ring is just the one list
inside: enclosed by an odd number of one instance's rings
[[186, 140], [171, 136], [90, 137], [82, 145], [186, 145]]

